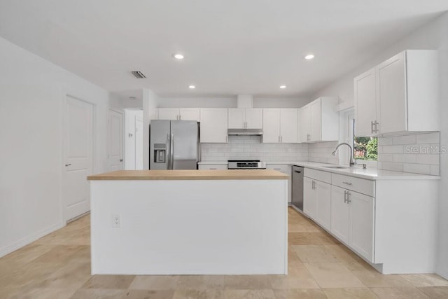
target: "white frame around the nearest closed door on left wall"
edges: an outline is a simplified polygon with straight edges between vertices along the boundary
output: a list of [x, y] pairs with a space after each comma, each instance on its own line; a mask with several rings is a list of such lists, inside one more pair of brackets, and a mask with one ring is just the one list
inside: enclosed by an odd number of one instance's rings
[[64, 201], [64, 190], [63, 190], [63, 183], [65, 180], [65, 166], [64, 166], [64, 158], [65, 158], [65, 150], [66, 150], [66, 106], [67, 106], [67, 97], [73, 97], [74, 99], [77, 99], [80, 102], [85, 102], [87, 104], [92, 105], [92, 172], [96, 172], [97, 167], [95, 167], [95, 164], [97, 162], [97, 147], [98, 147], [98, 140], [97, 140], [97, 101], [94, 101], [93, 99], [90, 99], [90, 97], [80, 95], [79, 92], [75, 92], [74, 90], [69, 90], [68, 88], [62, 88], [62, 101], [61, 101], [61, 130], [60, 130], [60, 136], [61, 136], [61, 155], [59, 157], [59, 211], [60, 211], [60, 219], [62, 225], [66, 225], [67, 221], [70, 219], [66, 218], [66, 211], [65, 211], [65, 201]]

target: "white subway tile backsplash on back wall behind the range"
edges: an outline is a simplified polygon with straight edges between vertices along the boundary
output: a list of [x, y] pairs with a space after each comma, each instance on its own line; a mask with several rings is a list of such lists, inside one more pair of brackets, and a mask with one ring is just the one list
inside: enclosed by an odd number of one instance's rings
[[260, 136], [229, 136], [228, 144], [202, 144], [202, 161], [259, 159], [265, 162], [308, 160], [308, 144], [263, 144]]

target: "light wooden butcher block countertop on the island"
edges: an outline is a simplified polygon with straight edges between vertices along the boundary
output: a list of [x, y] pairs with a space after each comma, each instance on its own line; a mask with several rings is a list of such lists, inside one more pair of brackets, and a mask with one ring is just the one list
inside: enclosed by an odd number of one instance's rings
[[125, 180], [258, 180], [288, 179], [286, 174], [272, 169], [241, 170], [118, 170], [87, 176], [89, 181]]

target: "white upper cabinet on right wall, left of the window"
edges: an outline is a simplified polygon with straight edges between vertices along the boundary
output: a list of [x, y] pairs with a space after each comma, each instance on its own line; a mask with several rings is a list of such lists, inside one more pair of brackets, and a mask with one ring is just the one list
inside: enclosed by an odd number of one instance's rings
[[337, 97], [319, 97], [300, 109], [301, 142], [339, 140], [338, 102]]

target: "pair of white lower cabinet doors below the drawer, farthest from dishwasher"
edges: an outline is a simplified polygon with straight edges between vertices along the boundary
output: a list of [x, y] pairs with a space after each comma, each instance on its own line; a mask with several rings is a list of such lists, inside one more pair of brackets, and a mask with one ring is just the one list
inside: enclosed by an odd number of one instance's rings
[[332, 186], [331, 232], [373, 263], [374, 197]]

